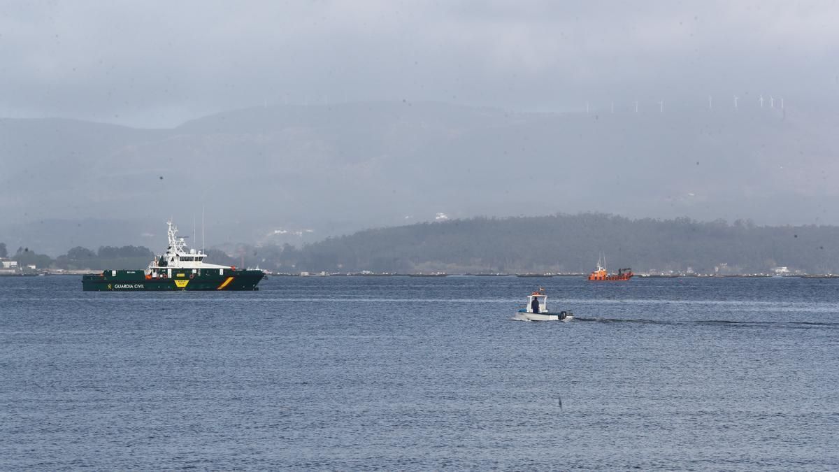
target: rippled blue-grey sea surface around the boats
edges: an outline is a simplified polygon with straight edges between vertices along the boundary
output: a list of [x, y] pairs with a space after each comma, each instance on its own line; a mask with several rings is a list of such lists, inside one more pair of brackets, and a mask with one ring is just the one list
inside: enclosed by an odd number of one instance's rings
[[837, 280], [260, 287], [0, 278], [0, 469], [839, 469]]

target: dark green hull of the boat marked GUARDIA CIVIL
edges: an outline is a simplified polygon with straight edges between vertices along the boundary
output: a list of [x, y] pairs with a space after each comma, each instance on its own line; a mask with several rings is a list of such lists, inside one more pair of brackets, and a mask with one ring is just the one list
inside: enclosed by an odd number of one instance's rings
[[171, 277], [147, 277], [143, 270], [105, 270], [82, 275], [84, 291], [259, 290], [262, 270], [173, 270]]

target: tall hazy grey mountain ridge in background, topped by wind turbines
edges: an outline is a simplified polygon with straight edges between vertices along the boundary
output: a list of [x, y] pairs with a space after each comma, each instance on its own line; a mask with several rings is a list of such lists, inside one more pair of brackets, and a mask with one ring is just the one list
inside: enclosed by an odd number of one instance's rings
[[50, 221], [80, 239], [152, 247], [143, 233], [169, 217], [191, 227], [202, 208], [212, 244], [300, 244], [438, 212], [839, 224], [836, 118], [792, 106], [586, 114], [363, 102], [248, 108], [170, 129], [0, 119], [0, 240], [35, 234], [52, 254], [77, 244], [60, 228], [41, 233]]

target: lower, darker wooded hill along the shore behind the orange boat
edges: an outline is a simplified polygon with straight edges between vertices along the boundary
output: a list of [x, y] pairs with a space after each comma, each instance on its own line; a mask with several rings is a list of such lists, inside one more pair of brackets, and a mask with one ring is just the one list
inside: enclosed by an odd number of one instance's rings
[[279, 258], [279, 269], [588, 272], [600, 251], [611, 270], [744, 274], [789, 266], [839, 273], [839, 228], [633, 220], [592, 213], [472, 218], [370, 229], [288, 249]]

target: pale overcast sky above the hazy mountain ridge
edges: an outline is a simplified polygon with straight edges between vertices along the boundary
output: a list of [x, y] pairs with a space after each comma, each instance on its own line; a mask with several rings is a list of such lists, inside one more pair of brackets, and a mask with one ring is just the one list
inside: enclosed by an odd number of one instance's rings
[[0, 116], [158, 127], [266, 102], [804, 102], [839, 95], [836, 18], [839, 3], [789, 1], [0, 3]]

